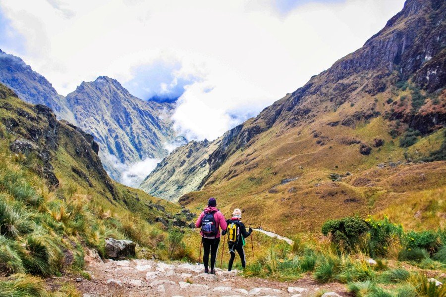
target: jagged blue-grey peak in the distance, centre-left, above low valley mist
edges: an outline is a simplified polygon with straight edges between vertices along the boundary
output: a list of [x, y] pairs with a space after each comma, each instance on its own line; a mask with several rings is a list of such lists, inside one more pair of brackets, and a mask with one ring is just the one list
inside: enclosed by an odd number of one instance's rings
[[169, 119], [172, 104], [138, 99], [109, 77], [82, 82], [66, 99], [79, 127], [95, 136], [104, 166], [116, 180], [116, 162], [163, 158], [164, 146], [175, 138]]

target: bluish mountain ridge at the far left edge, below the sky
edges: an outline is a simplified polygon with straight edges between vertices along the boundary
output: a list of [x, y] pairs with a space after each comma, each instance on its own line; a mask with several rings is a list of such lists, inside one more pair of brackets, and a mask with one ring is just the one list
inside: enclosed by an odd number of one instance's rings
[[59, 118], [75, 123], [66, 99], [57, 94], [45, 77], [33, 71], [21, 58], [1, 50], [0, 83], [13, 89], [21, 99], [33, 104], [45, 104]]

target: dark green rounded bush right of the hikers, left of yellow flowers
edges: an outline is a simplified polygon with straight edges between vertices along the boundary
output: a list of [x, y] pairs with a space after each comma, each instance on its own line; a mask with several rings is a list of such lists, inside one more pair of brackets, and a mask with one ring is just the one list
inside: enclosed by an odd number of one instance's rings
[[330, 220], [322, 225], [322, 233], [326, 236], [330, 235], [340, 250], [351, 250], [366, 231], [366, 222], [354, 217]]

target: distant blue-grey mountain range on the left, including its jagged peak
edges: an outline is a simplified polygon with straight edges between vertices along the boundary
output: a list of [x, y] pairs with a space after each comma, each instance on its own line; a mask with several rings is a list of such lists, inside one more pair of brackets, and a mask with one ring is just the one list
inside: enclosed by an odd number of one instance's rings
[[183, 141], [175, 137], [170, 120], [175, 103], [138, 99], [106, 76], [82, 82], [64, 97], [21, 58], [0, 51], [0, 82], [21, 99], [45, 104], [59, 119], [92, 134], [105, 169], [117, 181], [122, 181], [123, 172], [133, 163], [162, 159], [168, 153], [167, 144]]

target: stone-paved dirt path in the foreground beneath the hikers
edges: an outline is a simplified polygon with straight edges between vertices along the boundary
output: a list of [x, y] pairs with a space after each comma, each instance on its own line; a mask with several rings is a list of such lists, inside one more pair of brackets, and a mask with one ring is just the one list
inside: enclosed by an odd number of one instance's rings
[[[203, 265], [153, 260], [100, 262], [88, 258], [86, 269], [92, 280], [76, 282], [83, 297], [99, 296], [315, 296], [321, 289], [345, 294], [341, 284], [321, 286], [311, 277], [294, 283], [243, 278], [237, 271], [217, 269], [217, 275], [204, 274]], [[300, 294], [300, 295], [299, 295]]]

